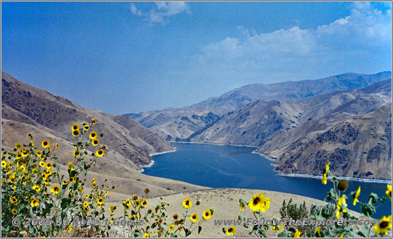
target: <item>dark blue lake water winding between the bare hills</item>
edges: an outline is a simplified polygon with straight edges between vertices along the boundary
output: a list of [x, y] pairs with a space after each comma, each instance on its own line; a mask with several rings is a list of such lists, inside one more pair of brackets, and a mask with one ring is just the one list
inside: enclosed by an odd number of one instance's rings
[[[252, 147], [173, 143], [176, 152], [154, 156], [153, 166], [144, 169], [144, 174], [184, 181], [208, 187], [234, 187], [264, 189], [298, 194], [324, 200], [332, 183], [322, 185], [320, 179], [278, 176], [273, 171], [272, 161], [251, 154]], [[348, 181], [345, 191], [349, 194], [361, 186], [359, 201], [366, 202], [371, 192], [385, 196], [386, 184]], [[288, 198], [289, 200], [289, 198]], [[360, 212], [360, 204], [348, 208]], [[388, 199], [381, 205], [375, 218], [391, 215], [392, 203]]]

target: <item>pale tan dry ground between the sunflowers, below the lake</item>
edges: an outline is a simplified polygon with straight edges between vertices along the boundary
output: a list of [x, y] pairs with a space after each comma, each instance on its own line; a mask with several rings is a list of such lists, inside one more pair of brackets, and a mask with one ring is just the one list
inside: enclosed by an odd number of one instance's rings
[[[172, 221], [172, 215], [177, 213], [179, 216], [182, 213], [185, 213], [185, 209], [182, 206], [182, 201], [185, 198], [190, 198], [193, 207], [189, 209], [189, 214], [197, 212], [199, 216], [199, 220], [202, 219], [202, 212], [206, 209], [210, 209], [214, 207], [214, 216], [208, 219], [207, 221], [203, 222], [202, 231], [199, 235], [197, 235], [197, 230], [193, 232], [191, 237], [228, 237], [222, 232], [223, 225], [214, 225], [214, 219], [224, 219], [224, 220], [237, 220], [238, 214], [242, 213], [242, 215], [246, 217], [253, 217], [253, 213], [250, 208], [246, 208], [245, 211], [239, 210], [238, 201], [239, 198], [244, 197], [246, 201], [249, 201], [251, 197], [256, 193], [265, 193], [265, 197], [270, 198], [270, 208], [268, 211], [262, 213], [265, 218], [271, 218], [276, 216], [277, 218], [280, 217], [280, 207], [282, 205], [282, 201], [285, 199], [288, 201], [290, 198], [297, 203], [303, 203], [306, 201], [308, 207], [311, 204], [322, 205], [322, 201], [276, 191], [267, 191], [267, 190], [251, 190], [251, 189], [237, 189], [237, 188], [215, 188], [215, 189], [202, 189], [193, 192], [184, 192], [184, 193], [176, 193], [168, 196], [163, 196], [163, 201], [169, 203], [167, 207], [169, 218], [167, 219], [169, 223]], [[106, 202], [106, 206], [109, 207], [110, 205], [117, 206], [117, 210], [115, 212], [115, 217], [120, 217], [123, 214], [123, 206], [121, 201], [117, 201], [118, 198], [124, 195], [121, 194], [112, 194], [111, 200]], [[130, 195], [131, 198], [131, 195]], [[201, 205], [196, 206], [195, 203], [197, 199], [201, 200]], [[125, 200], [122, 199], [122, 200]], [[160, 202], [159, 197], [149, 198], [148, 200], [147, 209], [153, 209], [157, 206]], [[145, 211], [147, 211], [145, 209]], [[191, 213], [190, 213], [191, 212]], [[354, 212], [355, 214], [359, 215], [358, 213]], [[108, 212], [108, 216], [109, 216]], [[190, 219], [186, 219], [186, 227], [190, 225]], [[154, 231], [154, 230], [153, 230]], [[122, 237], [121, 234], [118, 235]], [[272, 237], [275, 234], [271, 235]], [[249, 237], [248, 231], [243, 226], [236, 226], [236, 237]]]

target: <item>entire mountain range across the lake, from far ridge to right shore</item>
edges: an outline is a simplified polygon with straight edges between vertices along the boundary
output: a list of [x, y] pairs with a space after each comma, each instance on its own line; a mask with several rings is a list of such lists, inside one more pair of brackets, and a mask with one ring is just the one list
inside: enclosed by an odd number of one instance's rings
[[[277, 159], [277, 170], [286, 174], [319, 175], [330, 161], [338, 176], [391, 180], [391, 103], [390, 72], [347, 73], [247, 85], [196, 105], [132, 117], [167, 140], [258, 146], [255, 151]], [[209, 121], [199, 120], [208, 114]]]

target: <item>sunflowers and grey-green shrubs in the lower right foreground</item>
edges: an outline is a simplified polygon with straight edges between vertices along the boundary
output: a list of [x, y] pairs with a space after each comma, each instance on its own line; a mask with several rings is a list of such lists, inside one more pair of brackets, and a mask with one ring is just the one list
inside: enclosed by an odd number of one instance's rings
[[[349, 222], [345, 222], [345, 220], [358, 220], [361, 217], [367, 218], [368, 220], [372, 220], [371, 216], [376, 212], [376, 209], [384, 202], [388, 200], [388, 198], [392, 201], [392, 185], [387, 185], [386, 195], [387, 197], [380, 198], [377, 194], [371, 193], [368, 196], [368, 202], [359, 202], [359, 195], [361, 192], [360, 187], [353, 192], [350, 192], [346, 195], [344, 192], [348, 187], [348, 182], [346, 180], [338, 180], [336, 176], [332, 175], [329, 170], [330, 163], [327, 163], [325, 169], [323, 170], [322, 184], [327, 184], [328, 177], [332, 177], [333, 188], [328, 192], [325, 197], [324, 203], [317, 207], [312, 205], [310, 210], [306, 208], [306, 205], [300, 205], [297, 207], [296, 204], [293, 204], [291, 201], [289, 204], [283, 202], [283, 206], [280, 210], [282, 217], [303, 219], [309, 217], [311, 220], [327, 220], [327, 219], [341, 219], [344, 223], [335, 222], [331, 226], [327, 226], [325, 224], [321, 226], [314, 227], [312, 230], [312, 226], [298, 226], [293, 225], [288, 226], [281, 222], [280, 225], [266, 225], [264, 223], [248, 223], [248, 218], [244, 217], [242, 214], [238, 215], [239, 220], [243, 220], [243, 226], [249, 230], [250, 235], [255, 235], [257, 237], [372, 237], [372, 236], [385, 236], [388, 235], [388, 231], [392, 229], [392, 215], [383, 216], [380, 219], [379, 225], [363, 225], [359, 227], [359, 225], [350, 225]], [[355, 206], [357, 203], [360, 205], [362, 215], [361, 217], [357, 217], [351, 215], [347, 209], [346, 200], [352, 199], [353, 205]], [[325, 202], [329, 203], [325, 205]], [[262, 220], [268, 220], [263, 216], [263, 212], [266, 212], [270, 207], [270, 200], [265, 194], [255, 194], [249, 202], [247, 202], [244, 198], [239, 199], [240, 210], [245, 210], [248, 206], [251, 211], [253, 211], [253, 216], [256, 221], [261, 222]], [[271, 222], [273, 220], [280, 220], [278, 218], [270, 218]], [[370, 223], [371, 224], [371, 223]], [[236, 228], [228, 227], [223, 228], [223, 232], [227, 235], [235, 236]]]

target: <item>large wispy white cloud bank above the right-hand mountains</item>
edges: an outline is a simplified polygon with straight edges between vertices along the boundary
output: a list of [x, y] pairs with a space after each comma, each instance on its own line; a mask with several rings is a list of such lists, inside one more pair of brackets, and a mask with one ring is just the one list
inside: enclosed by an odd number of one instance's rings
[[391, 10], [382, 12], [369, 2], [355, 2], [349, 16], [313, 29], [291, 27], [253, 35], [243, 26], [237, 29], [243, 37], [202, 47], [189, 65], [228, 77], [303, 79], [306, 71], [326, 72], [337, 64], [343, 72], [361, 69], [361, 64], [392, 49]]

